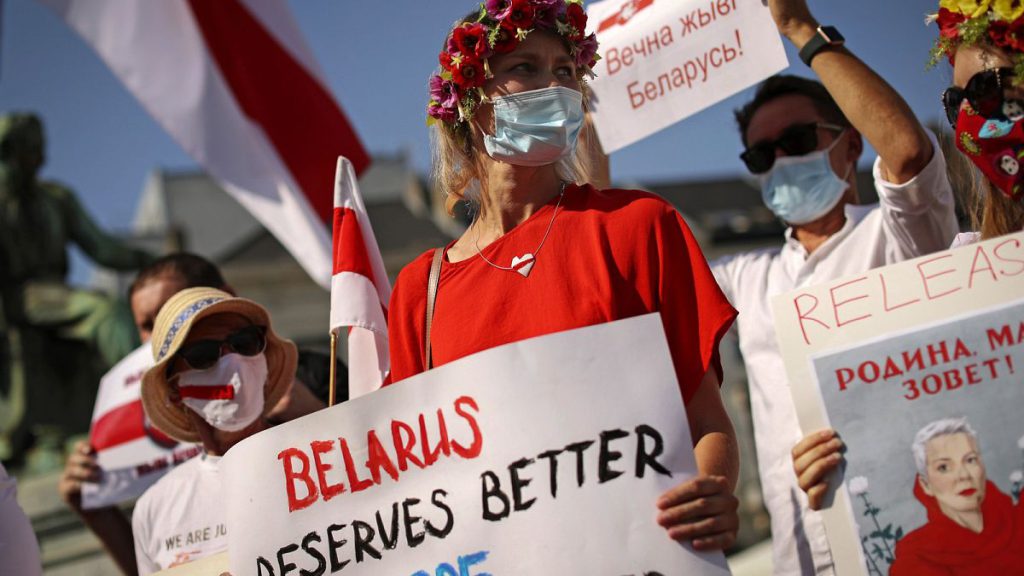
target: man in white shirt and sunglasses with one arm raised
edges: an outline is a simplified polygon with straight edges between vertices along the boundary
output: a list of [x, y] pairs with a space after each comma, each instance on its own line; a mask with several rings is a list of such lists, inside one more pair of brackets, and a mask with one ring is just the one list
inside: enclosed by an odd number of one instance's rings
[[[791, 452], [804, 435], [775, 340], [771, 298], [945, 249], [957, 227], [941, 152], [906, 102], [843, 47], [835, 28], [818, 25], [805, 0], [767, 4], [820, 83], [770, 78], [736, 112], [740, 158], [757, 176], [765, 204], [788, 228], [781, 248], [736, 254], [712, 268], [739, 311], [775, 574], [831, 574], [823, 525], [801, 490], [830, 470], [794, 474]], [[879, 153], [873, 176], [881, 202], [866, 206], [858, 202], [855, 178], [863, 138]], [[833, 441], [839, 442], [825, 439]]]

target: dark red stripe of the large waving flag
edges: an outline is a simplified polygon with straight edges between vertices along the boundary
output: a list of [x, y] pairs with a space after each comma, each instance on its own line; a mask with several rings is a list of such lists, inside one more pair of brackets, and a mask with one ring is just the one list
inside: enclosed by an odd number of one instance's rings
[[370, 165], [331, 94], [239, 0], [189, 0], [210, 54], [243, 112], [263, 128], [324, 222], [334, 205], [338, 156]]

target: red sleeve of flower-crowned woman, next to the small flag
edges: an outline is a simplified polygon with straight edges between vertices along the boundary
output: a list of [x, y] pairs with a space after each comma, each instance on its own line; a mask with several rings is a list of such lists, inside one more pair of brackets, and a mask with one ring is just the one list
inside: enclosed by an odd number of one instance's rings
[[427, 318], [427, 276], [433, 250], [401, 269], [388, 305], [388, 348], [391, 374], [384, 385], [426, 371], [424, 332]]

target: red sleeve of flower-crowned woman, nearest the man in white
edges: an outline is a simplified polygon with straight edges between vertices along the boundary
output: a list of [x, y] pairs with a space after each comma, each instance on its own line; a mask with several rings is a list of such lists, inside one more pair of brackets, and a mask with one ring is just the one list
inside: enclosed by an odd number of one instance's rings
[[709, 370], [714, 369], [722, 382], [718, 345], [736, 311], [715, 281], [689, 227], [671, 205], [666, 205], [655, 237], [662, 322], [687, 403]]

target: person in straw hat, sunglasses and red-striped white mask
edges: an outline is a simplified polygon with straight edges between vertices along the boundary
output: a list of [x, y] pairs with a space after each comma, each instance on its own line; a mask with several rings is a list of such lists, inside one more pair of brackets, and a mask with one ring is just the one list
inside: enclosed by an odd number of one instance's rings
[[202, 444], [204, 453], [139, 498], [132, 529], [142, 575], [226, 549], [219, 458], [267, 427], [264, 416], [288, 394], [297, 356], [262, 306], [212, 288], [168, 300], [152, 345], [156, 365], [142, 377], [146, 416], [171, 438]]

